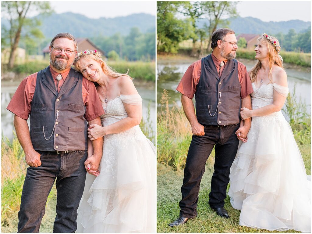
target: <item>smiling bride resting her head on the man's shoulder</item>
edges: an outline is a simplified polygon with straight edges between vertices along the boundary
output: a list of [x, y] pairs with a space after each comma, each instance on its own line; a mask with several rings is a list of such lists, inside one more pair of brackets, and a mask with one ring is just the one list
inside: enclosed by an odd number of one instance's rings
[[156, 232], [156, 155], [138, 126], [142, 98], [132, 78], [112, 71], [96, 50], [78, 53], [74, 66], [98, 84], [105, 111], [103, 127], [88, 128], [91, 141], [104, 136], [103, 157], [96, 177], [87, 174], [77, 232]]

